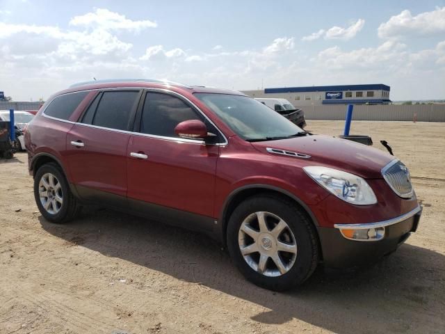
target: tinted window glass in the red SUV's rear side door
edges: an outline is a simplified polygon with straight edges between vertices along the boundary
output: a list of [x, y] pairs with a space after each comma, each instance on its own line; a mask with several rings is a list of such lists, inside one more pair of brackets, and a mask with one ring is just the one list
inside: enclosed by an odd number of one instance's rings
[[127, 130], [131, 110], [136, 104], [138, 91], [104, 92], [92, 125]]

